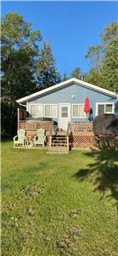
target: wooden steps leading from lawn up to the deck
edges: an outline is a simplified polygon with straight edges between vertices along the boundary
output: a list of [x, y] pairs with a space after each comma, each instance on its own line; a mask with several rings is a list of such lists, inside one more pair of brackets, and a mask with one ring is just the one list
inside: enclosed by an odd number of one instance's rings
[[50, 137], [49, 154], [68, 154], [69, 152], [69, 137], [65, 132]]

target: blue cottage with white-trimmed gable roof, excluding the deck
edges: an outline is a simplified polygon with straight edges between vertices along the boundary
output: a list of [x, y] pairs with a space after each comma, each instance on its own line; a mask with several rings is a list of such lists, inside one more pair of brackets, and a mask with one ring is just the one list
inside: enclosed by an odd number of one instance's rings
[[59, 129], [66, 131], [68, 122], [87, 122], [88, 116], [84, 113], [87, 97], [93, 118], [99, 113], [118, 114], [115, 92], [74, 78], [20, 98], [16, 102], [26, 107], [31, 119], [53, 119]]

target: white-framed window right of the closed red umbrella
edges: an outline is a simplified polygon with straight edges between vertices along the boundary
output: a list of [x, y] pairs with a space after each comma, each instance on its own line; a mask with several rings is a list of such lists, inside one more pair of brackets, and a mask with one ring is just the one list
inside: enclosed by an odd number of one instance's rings
[[97, 114], [100, 113], [114, 113], [113, 103], [97, 103]]

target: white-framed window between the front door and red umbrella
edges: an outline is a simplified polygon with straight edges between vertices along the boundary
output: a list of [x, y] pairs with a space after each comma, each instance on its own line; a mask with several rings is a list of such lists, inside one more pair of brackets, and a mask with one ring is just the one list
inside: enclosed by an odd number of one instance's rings
[[72, 117], [73, 118], [85, 118], [84, 104], [72, 105]]

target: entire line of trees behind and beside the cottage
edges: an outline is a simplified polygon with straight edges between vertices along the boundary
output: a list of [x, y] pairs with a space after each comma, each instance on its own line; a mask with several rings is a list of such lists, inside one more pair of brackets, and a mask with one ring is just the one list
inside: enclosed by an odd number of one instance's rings
[[[104, 27], [101, 44], [87, 50], [90, 60], [88, 73], [76, 67], [70, 77], [66, 71], [61, 78], [55, 67], [55, 58], [49, 42], [43, 41], [40, 30], [33, 31], [31, 22], [23, 16], [8, 13], [1, 25], [1, 107], [2, 136], [13, 137], [17, 125], [16, 100], [37, 90], [74, 77], [91, 84], [118, 91], [118, 22]], [[79, 49], [78, 49], [79, 50]]]

